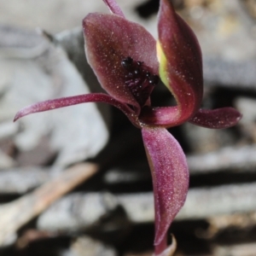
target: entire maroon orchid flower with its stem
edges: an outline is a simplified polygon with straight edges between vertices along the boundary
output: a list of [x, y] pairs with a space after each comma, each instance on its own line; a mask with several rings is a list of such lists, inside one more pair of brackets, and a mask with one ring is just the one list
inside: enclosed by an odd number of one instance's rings
[[[167, 230], [183, 207], [189, 188], [189, 169], [183, 149], [166, 130], [186, 121], [207, 128], [236, 125], [234, 108], [201, 109], [203, 95], [201, 48], [194, 32], [176, 14], [170, 0], [160, 0], [159, 38], [125, 19], [115, 0], [103, 0], [111, 14], [93, 13], [83, 20], [85, 51], [102, 88], [108, 92], [38, 102], [29, 113], [84, 102], [105, 102], [119, 108], [141, 129], [152, 172], [155, 209], [155, 255], [169, 255]], [[150, 95], [161, 80], [177, 106], [152, 107]]]

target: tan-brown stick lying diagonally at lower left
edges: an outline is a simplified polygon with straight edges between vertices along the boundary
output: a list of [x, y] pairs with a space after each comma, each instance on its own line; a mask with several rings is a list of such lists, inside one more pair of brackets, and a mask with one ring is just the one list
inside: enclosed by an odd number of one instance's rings
[[23, 224], [43, 212], [51, 203], [95, 174], [94, 164], [79, 164], [63, 172], [59, 177], [18, 200], [0, 206], [0, 246], [14, 241], [15, 232]]

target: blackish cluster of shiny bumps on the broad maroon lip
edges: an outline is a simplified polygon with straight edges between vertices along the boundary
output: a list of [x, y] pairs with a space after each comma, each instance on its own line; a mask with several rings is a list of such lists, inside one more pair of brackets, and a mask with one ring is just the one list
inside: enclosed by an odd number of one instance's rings
[[125, 84], [140, 106], [143, 107], [154, 89], [154, 85], [159, 83], [159, 77], [151, 74], [143, 61], [134, 61], [130, 56], [121, 61], [121, 66], [127, 71]]

